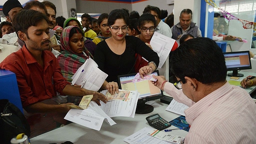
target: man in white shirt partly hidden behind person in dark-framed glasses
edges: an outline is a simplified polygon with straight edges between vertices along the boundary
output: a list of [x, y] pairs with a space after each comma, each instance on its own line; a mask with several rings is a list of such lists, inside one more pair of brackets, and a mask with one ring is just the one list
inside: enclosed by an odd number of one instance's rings
[[172, 31], [168, 24], [164, 23], [160, 18], [161, 18], [161, 11], [158, 7], [156, 6], [150, 6], [147, 5], [144, 8], [143, 14], [144, 13], [150, 13], [152, 14], [155, 19], [156, 19], [156, 28], [155, 32], [159, 32], [160, 34], [163, 34], [165, 36], [168, 36], [169, 38], [172, 38]]

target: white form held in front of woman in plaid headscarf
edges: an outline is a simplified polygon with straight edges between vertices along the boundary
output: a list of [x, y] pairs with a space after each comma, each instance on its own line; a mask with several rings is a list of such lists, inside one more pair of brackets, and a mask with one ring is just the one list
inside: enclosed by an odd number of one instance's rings
[[82, 85], [82, 88], [87, 90], [98, 91], [107, 76], [98, 68], [96, 62], [89, 58], [72, 76], [72, 84]]

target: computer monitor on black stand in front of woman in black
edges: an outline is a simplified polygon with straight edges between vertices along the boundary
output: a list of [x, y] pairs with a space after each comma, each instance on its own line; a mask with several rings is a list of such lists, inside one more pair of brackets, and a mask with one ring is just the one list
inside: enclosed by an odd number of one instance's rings
[[[118, 76], [118, 86], [122, 90], [138, 90], [140, 96], [137, 103], [136, 114], [147, 114], [152, 112], [154, 107], [145, 104], [145, 102], [164, 98], [163, 91], [154, 86], [150, 80], [133, 83], [132, 80], [135, 78], [136, 74], [137, 73]], [[159, 76], [158, 70], [154, 71], [152, 74]]]

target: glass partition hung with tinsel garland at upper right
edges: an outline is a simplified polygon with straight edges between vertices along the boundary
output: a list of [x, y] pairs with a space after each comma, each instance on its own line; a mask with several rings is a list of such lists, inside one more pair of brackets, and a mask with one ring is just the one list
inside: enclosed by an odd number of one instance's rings
[[[212, 33], [212, 39], [227, 42], [232, 51], [256, 52], [256, 32], [253, 28], [243, 27], [255, 22], [256, 0], [215, 0], [214, 3], [217, 8], [208, 6], [208, 19], [212, 19], [210, 21], [213, 24], [208, 24], [207, 32]], [[229, 16], [231, 20], [225, 16]], [[230, 37], [235, 40], [230, 40]]]

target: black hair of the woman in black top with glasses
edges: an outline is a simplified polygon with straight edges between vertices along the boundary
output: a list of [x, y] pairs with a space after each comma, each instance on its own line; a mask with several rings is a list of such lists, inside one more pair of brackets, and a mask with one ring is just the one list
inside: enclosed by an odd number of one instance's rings
[[123, 19], [126, 25], [130, 24], [129, 16], [124, 10], [115, 9], [112, 10], [108, 16], [108, 26], [111, 26], [115, 23], [117, 19]]

